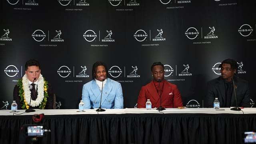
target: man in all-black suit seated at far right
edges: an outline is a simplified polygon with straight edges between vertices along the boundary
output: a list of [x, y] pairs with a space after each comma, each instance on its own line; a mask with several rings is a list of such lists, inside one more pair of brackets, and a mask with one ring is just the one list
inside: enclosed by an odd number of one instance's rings
[[250, 107], [249, 84], [236, 76], [236, 61], [226, 59], [219, 68], [221, 68], [221, 76], [210, 80], [207, 84], [206, 107], [213, 107], [215, 98], [220, 101], [220, 107], [236, 107], [234, 88], [238, 107]]

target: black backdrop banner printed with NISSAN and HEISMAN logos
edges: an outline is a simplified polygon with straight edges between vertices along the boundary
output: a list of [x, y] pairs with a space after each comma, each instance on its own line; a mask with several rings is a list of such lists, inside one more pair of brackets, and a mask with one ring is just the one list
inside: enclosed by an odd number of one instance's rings
[[203, 108], [206, 82], [238, 62], [255, 106], [255, 0], [1, 0], [0, 106], [36, 59], [62, 109], [78, 108], [92, 64], [103, 61], [133, 108], [150, 67], [162, 62], [184, 106]]

